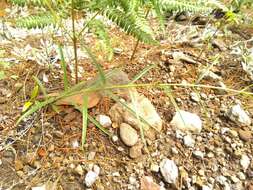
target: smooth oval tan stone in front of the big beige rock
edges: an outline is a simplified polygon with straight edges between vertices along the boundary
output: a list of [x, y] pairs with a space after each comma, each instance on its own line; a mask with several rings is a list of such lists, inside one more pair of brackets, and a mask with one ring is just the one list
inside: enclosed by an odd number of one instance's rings
[[127, 146], [134, 146], [138, 141], [137, 131], [126, 123], [120, 124], [120, 138]]

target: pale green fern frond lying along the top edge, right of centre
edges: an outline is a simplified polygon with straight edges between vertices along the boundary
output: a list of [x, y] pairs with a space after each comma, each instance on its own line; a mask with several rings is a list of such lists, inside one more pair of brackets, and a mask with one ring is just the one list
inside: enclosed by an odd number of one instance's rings
[[159, 4], [164, 11], [189, 11], [189, 12], [211, 12], [211, 7], [202, 3], [189, 0], [159, 0]]

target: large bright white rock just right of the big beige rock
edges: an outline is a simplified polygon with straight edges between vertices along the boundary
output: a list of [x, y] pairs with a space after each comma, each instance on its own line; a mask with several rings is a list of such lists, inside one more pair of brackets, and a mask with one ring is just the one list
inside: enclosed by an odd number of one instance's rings
[[191, 131], [200, 133], [202, 129], [202, 121], [199, 116], [183, 110], [176, 112], [170, 124], [176, 129], [180, 129], [184, 132]]

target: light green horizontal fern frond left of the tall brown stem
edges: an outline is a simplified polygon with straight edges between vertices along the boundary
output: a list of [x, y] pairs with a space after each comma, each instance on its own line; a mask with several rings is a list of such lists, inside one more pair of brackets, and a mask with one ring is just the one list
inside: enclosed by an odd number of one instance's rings
[[44, 28], [48, 25], [56, 25], [55, 18], [50, 14], [33, 15], [16, 20], [16, 25], [23, 28]]

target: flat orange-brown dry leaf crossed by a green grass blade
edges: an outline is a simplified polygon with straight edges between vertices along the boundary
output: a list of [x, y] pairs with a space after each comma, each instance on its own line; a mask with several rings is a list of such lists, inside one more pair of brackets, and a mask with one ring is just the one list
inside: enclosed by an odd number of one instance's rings
[[[57, 100], [56, 105], [77, 105], [82, 107], [83, 105], [83, 93], [75, 94], [72, 96], [68, 96], [66, 98], [62, 98]], [[101, 95], [98, 92], [91, 92], [88, 94], [88, 108], [95, 107], [101, 99]]]

